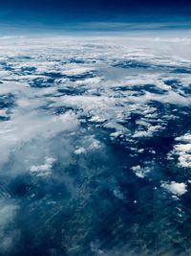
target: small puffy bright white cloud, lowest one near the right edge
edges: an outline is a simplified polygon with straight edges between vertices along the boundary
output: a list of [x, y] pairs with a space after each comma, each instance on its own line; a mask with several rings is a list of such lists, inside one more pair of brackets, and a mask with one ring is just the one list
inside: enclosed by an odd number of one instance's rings
[[172, 193], [176, 196], [182, 196], [187, 192], [187, 185], [183, 182], [171, 181], [170, 183], [164, 182], [161, 184], [161, 187]]

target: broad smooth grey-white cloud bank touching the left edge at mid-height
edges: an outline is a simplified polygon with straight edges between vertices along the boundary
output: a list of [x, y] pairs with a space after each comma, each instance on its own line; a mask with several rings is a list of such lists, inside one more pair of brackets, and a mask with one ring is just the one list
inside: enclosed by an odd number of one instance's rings
[[24, 115], [12, 116], [11, 121], [2, 123], [0, 128], [0, 163], [8, 160], [11, 151], [37, 137], [49, 140], [59, 132], [73, 131], [78, 122], [73, 112], [58, 116], [43, 115], [40, 112], [31, 112]]

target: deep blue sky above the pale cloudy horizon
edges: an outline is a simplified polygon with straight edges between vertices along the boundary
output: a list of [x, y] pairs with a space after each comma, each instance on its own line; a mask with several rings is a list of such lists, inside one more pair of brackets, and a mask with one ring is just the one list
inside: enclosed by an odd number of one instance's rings
[[[187, 28], [190, 27], [190, 19], [191, 2], [188, 0], [0, 1], [2, 29], [46, 27], [66, 30], [124, 30], [124, 24], [129, 23], [169, 24], [170, 27], [173, 23], [173, 27]], [[116, 25], [118, 23], [121, 26]], [[128, 26], [129, 29], [130, 27]]]

